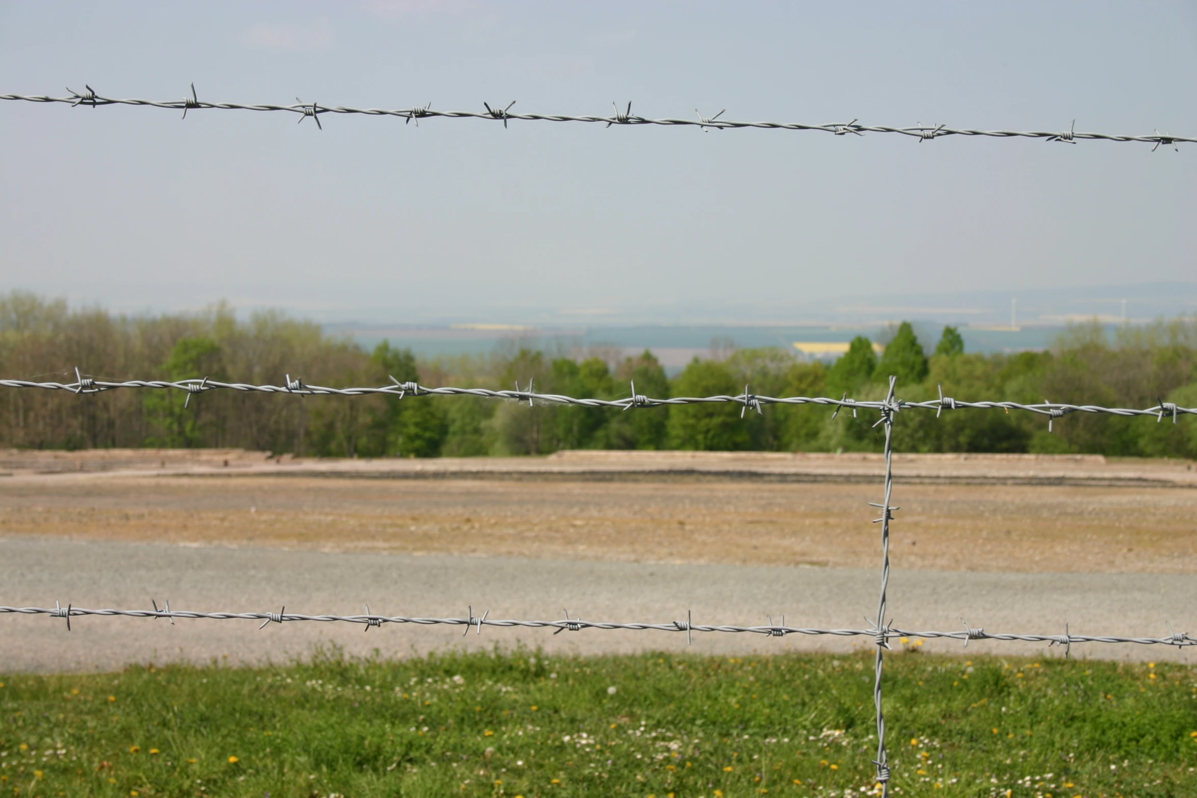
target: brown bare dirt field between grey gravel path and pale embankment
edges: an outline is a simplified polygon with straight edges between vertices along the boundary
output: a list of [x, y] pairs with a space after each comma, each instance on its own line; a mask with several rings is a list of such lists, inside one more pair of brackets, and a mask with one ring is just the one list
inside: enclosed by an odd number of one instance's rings
[[[742, 463], [736, 477], [693, 469], [654, 475], [650, 468], [636, 479], [595, 480], [535, 471], [543, 458], [525, 462], [533, 470], [508, 473], [518, 479], [493, 479], [502, 470], [378, 479], [335, 469], [291, 476], [247, 470], [235, 477], [132, 469], [17, 475], [0, 481], [0, 534], [557, 560], [849, 568], [879, 562], [877, 528], [869, 523], [876, 511], [867, 502], [880, 498], [880, 482], [857, 479], [877, 473], [879, 463], [861, 461], [846, 475], [825, 468], [826, 481], [774, 481], [768, 473], [746, 479]], [[1119, 467], [1119, 483], [1044, 477], [1076, 471], [1077, 462], [985, 461], [988, 482], [966, 485], [903, 482], [899, 467], [894, 567], [1197, 572], [1197, 489], [1136, 483], [1126, 467]], [[1003, 474], [1023, 483], [1003, 483]], [[1028, 475], [1039, 483], [1026, 483]]]

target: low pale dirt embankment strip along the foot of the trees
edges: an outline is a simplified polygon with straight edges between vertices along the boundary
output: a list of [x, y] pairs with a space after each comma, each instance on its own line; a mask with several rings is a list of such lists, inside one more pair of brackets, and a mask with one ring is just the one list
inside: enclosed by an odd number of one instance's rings
[[[1191, 461], [1101, 455], [894, 455], [907, 485], [1075, 485], [1197, 488]], [[867, 452], [563, 451], [548, 457], [315, 458], [241, 449], [0, 450], [0, 475], [340, 476], [552, 481], [747, 480], [875, 483], [885, 467]]]

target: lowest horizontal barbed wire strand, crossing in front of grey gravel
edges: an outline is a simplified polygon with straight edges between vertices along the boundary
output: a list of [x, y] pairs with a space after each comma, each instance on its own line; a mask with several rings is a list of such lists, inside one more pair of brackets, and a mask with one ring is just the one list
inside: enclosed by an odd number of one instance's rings
[[[952, 639], [952, 640], [999, 640], [999, 641], [1023, 641], [1023, 642], [1047, 642], [1053, 645], [1068, 646], [1074, 642], [1132, 642], [1140, 645], [1165, 645], [1165, 646], [1195, 646], [1197, 645], [1197, 636], [1192, 636], [1187, 633], [1171, 633], [1163, 638], [1152, 638], [1152, 636], [1123, 636], [1123, 635], [1092, 635], [1092, 634], [1014, 634], [1014, 633], [992, 633], [985, 632], [984, 628], [971, 628], [965, 627], [965, 629], [959, 632], [934, 632], [934, 631], [916, 631], [916, 629], [901, 629], [892, 625], [887, 625], [885, 629], [824, 629], [824, 628], [810, 628], [810, 627], [795, 627], [785, 626], [784, 623], [774, 625], [767, 623], [762, 626], [733, 626], [733, 625], [704, 625], [704, 623], [692, 623], [691, 621], [670, 621], [668, 623], [616, 623], [607, 621], [584, 621], [581, 617], [572, 619], [565, 617], [557, 621], [523, 621], [523, 620], [509, 620], [509, 619], [491, 619], [487, 614], [481, 616], [475, 616], [473, 613], [468, 617], [418, 617], [407, 615], [378, 615], [378, 614], [364, 614], [364, 615], [306, 615], [300, 613], [195, 613], [190, 610], [171, 610], [171, 609], [140, 609], [140, 610], [122, 610], [122, 609], [87, 609], [83, 607], [0, 607], [0, 614], [18, 614], [18, 615], [48, 615], [51, 617], [86, 617], [86, 616], [104, 616], [104, 617], [148, 617], [148, 619], [207, 619], [215, 621], [267, 621], [267, 622], [293, 622], [293, 621], [315, 621], [321, 623], [357, 623], [365, 627], [371, 626], [383, 626], [385, 623], [414, 623], [417, 626], [464, 626], [468, 628], [476, 628], [480, 631], [484, 626], [498, 627], [498, 628], [511, 628], [511, 627], [523, 627], [523, 628], [547, 628], [555, 629], [558, 632], [581, 632], [582, 629], [628, 629], [628, 631], [656, 631], [656, 632], [724, 632], [724, 633], [747, 633], [747, 634], [764, 634], [767, 636], [782, 638], [788, 634], [804, 634], [804, 635], [834, 635], [834, 636], [857, 636], [857, 638], [877, 638], [882, 636], [886, 640], [897, 640], [900, 638], [907, 639]], [[467, 631], [468, 631], [467, 628]]]

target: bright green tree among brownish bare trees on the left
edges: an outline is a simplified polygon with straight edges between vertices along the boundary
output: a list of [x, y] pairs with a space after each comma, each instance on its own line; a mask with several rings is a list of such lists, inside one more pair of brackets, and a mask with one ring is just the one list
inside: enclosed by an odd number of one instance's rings
[[[223, 380], [220, 347], [209, 337], [180, 339], [162, 365], [171, 382], [209, 377]], [[156, 432], [146, 438], [147, 446], [192, 449], [202, 445], [203, 398], [180, 395], [174, 389], [147, 391], [144, 397], [146, 420]]]

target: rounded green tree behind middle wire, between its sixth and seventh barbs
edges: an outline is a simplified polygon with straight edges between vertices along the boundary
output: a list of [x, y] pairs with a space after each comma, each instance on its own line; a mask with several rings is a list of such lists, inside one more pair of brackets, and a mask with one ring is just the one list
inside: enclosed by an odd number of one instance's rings
[[[679, 374], [675, 396], [735, 395], [743, 391], [731, 371], [715, 360], [694, 358]], [[675, 404], [669, 408], [669, 444], [674, 449], [735, 451], [748, 447], [748, 425], [740, 419], [742, 406], [730, 403]]]

